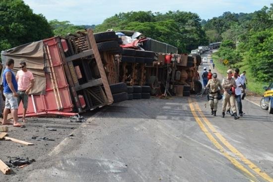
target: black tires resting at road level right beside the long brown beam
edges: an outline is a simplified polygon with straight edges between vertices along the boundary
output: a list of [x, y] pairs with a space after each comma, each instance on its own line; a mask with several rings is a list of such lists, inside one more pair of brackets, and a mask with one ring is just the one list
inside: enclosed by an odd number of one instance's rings
[[109, 86], [112, 92], [114, 103], [126, 101], [129, 99], [128, 89], [125, 83], [115, 83]]

